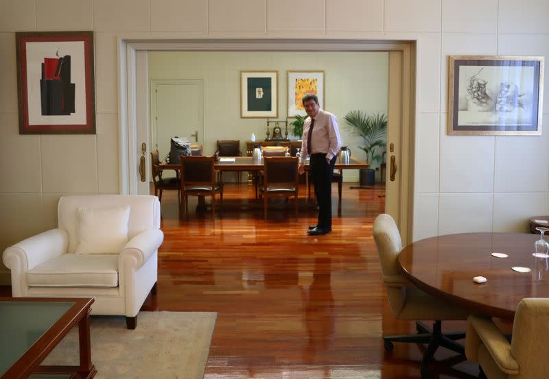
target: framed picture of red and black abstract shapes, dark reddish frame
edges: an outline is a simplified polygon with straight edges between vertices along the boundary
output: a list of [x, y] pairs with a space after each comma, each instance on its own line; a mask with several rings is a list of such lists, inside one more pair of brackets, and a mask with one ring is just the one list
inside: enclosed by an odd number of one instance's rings
[[15, 34], [19, 134], [95, 134], [93, 32]]

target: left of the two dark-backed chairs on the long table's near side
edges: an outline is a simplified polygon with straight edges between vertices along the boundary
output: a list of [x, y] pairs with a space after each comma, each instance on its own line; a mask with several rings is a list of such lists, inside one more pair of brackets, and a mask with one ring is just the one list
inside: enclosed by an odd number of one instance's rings
[[[223, 205], [223, 186], [215, 180], [213, 156], [182, 156], [180, 164], [181, 202], [185, 215], [189, 213], [189, 195], [211, 196], [211, 212], [215, 212], [215, 193], [220, 195], [220, 210]], [[183, 212], [180, 212], [183, 215]]]

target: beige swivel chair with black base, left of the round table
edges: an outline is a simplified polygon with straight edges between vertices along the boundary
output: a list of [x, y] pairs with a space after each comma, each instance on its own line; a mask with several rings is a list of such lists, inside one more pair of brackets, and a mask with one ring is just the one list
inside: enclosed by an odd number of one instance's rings
[[434, 320], [430, 329], [416, 321], [418, 334], [384, 336], [385, 350], [393, 350], [393, 342], [428, 343], [421, 360], [421, 376], [428, 374], [428, 363], [439, 346], [464, 353], [464, 347], [454, 340], [463, 339], [465, 333], [442, 333], [441, 320], [465, 320], [467, 311], [447, 304], [417, 289], [401, 272], [398, 262], [402, 250], [399, 230], [393, 217], [379, 215], [373, 223], [373, 237], [382, 264], [383, 281], [387, 289], [390, 308], [397, 319]]

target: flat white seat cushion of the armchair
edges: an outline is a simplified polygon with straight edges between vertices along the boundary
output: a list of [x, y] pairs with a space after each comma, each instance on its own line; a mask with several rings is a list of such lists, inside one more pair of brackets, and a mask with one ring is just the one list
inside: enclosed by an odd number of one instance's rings
[[39, 287], [116, 287], [118, 255], [62, 254], [27, 271], [27, 284]]

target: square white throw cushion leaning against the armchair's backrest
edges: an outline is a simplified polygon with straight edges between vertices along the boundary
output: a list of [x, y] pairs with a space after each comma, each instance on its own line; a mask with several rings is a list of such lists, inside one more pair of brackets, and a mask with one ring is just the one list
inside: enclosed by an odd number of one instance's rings
[[128, 242], [130, 206], [78, 208], [76, 254], [119, 254]]

